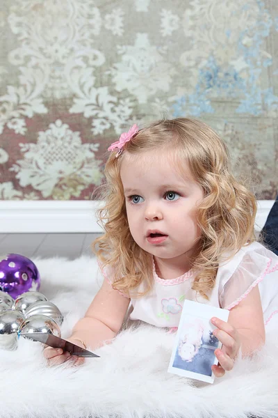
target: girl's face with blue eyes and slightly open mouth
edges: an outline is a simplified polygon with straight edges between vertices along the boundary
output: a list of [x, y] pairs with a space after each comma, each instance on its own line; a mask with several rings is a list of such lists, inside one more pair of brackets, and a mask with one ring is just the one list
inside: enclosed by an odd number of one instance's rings
[[[172, 166], [165, 152], [146, 152], [140, 157], [124, 153], [120, 176], [126, 199], [131, 235], [156, 258], [188, 267], [201, 232], [196, 206], [202, 187], [184, 164], [186, 179]], [[152, 235], [152, 233], [161, 235]]]

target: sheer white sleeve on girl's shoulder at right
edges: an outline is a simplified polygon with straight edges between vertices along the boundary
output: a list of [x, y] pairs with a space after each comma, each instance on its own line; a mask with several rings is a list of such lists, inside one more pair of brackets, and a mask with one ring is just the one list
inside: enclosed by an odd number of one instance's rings
[[252, 288], [277, 268], [276, 258], [272, 251], [262, 245], [255, 250], [245, 252], [234, 272], [231, 269], [231, 275], [225, 274], [222, 277], [218, 295], [220, 306], [230, 310], [245, 299]]

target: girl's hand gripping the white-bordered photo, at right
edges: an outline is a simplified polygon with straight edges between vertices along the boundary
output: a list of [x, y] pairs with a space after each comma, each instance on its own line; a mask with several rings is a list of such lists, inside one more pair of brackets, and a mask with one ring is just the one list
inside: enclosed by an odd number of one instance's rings
[[215, 325], [213, 335], [223, 344], [222, 348], [215, 350], [215, 356], [218, 359], [218, 366], [213, 364], [211, 367], [217, 378], [222, 378], [225, 371], [230, 371], [234, 367], [234, 361], [240, 349], [240, 335], [233, 325], [219, 318], [211, 318], [211, 323]]

